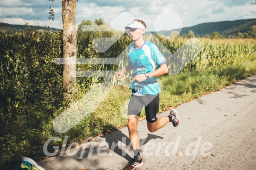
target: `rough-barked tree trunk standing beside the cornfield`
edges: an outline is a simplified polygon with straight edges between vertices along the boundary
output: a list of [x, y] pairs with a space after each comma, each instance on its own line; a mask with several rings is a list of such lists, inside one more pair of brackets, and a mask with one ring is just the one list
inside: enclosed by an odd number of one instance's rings
[[63, 88], [75, 93], [76, 82], [76, 0], [62, 0], [63, 58], [70, 63], [63, 64]]

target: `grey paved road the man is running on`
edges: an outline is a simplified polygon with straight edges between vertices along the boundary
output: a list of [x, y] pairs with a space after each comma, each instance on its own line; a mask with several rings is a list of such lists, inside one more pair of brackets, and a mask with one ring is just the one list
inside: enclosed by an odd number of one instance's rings
[[[146, 121], [139, 122], [144, 165], [136, 170], [256, 170], [256, 76], [177, 111], [178, 127], [167, 124], [150, 133]], [[122, 170], [133, 156], [127, 127], [85, 144], [38, 164], [46, 170]]]

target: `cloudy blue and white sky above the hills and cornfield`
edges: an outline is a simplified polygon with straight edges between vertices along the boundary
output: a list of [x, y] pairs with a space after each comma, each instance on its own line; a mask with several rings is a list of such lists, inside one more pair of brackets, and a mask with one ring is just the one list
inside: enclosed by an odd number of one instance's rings
[[[52, 22], [48, 19], [50, 6], [54, 10]], [[117, 30], [124, 30], [132, 18], [143, 20], [148, 31], [171, 30], [206, 22], [256, 18], [256, 0], [77, 1], [77, 25], [99, 18]], [[62, 28], [61, 0], [1, 0], [0, 22]]]

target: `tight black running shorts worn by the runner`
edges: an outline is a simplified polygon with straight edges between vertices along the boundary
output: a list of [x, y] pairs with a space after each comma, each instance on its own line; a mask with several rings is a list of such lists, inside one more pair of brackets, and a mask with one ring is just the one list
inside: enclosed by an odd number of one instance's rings
[[146, 96], [132, 95], [128, 105], [128, 115], [140, 117], [143, 105], [145, 106], [147, 121], [149, 123], [155, 122], [159, 112], [159, 94]]

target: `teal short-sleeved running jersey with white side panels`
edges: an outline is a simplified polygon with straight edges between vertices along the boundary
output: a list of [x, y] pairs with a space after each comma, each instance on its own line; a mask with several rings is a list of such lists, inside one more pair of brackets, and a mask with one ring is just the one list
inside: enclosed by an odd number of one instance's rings
[[[155, 71], [166, 63], [165, 57], [155, 44], [145, 41], [139, 49], [135, 49], [133, 46], [134, 44], [131, 44], [128, 47], [129, 60], [133, 67], [133, 78], [137, 74]], [[140, 83], [134, 81], [130, 85], [130, 89], [132, 89], [132, 94], [137, 96], [156, 95], [161, 92], [156, 77], [148, 78]]]

